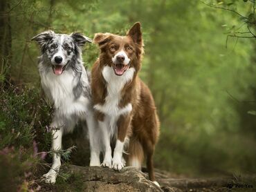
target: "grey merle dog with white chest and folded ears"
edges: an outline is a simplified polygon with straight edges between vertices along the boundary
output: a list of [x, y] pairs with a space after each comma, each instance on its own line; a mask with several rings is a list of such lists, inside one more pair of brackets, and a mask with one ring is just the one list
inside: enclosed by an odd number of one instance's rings
[[[89, 73], [82, 63], [82, 47], [91, 39], [80, 33], [56, 34], [48, 30], [33, 37], [41, 48], [39, 74], [44, 92], [53, 102], [55, 113], [51, 123], [53, 151], [62, 148], [62, 135], [73, 131], [77, 122], [88, 128], [91, 148], [90, 166], [100, 166], [96, 121], [91, 105]], [[44, 180], [55, 183], [60, 170], [60, 153], [54, 153], [51, 170]]]

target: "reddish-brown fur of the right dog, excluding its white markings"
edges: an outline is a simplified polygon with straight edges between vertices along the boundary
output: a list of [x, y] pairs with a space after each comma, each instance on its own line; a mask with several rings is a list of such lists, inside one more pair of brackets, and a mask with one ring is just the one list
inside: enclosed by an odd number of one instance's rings
[[[118, 140], [123, 142], [129, 136], [128, 164], [133, 157], [143, 162], [144, 155], [147, 157], [147, 169], [149, 179], [154, 178], [153, 154], [159, 135], [159, 122], [156, 114], [154, 99], [149, 88], [138, 77], [143, 55], [143, 39], [140, 31], [140, 23], [127, 32], [127, 35], [120, 37], [110, 33], [98, 33], [94, 38], [95, 44], [100, 47], [100, 58], [95, 62], [91, 71], [91, 88], [93, 104], [104, 104], [107, 95], [107, 82], [102, 77], [102, 69], [105, 65], [111, 66], [111, 57], [125, 49], [130, 60], [130, 67], [134, 67], [136, 72], [134, 77], [122, 89], [119, 107], [122, 108], [131, 103], [132, 111], [128, 115], [122, 115], [118, 119]], [[119, 47], [113, 48], [113, 43]], [[127, 47], [131, 47], [129, 50]], [[99, 121], [104, 119], [104, 114], [97, 112], [96, 117]]]

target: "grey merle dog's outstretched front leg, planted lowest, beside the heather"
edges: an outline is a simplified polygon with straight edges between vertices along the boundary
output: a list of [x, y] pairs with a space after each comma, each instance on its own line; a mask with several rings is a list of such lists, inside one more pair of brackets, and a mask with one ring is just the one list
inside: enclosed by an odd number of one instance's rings
[[[57, 127], [58, 125], [53, 123], [52, 128], [52, 150], [57, 151], [62, 148], [62, 128]], [[54, 184], [56, 182], [57, 173], [60, 171], [60, 154], [53, 153], [53, 164], [50, 171], [44, 174], [44, 180], [46, 183]]]

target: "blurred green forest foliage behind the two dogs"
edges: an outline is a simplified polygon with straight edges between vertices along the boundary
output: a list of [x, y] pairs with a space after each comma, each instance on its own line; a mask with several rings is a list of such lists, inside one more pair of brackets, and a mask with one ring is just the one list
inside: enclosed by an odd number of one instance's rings
[[[253, 8], [251, 1], [205, 3], [224, 4], [244, 15]], [[230, 31], [246, 30], [244, 21], [205, 3], [6, 1], [1, 15], [5, 24], [1, 26], [0, 82], [5, 86], [26, 85], [29, 91], [8, 92], [6, 97], [2, 86], [1, 102], [6, 104], [1, 104], [0, 112], [1, 148], [32, 144], [35, 127], [38, 130], [38, 121], [44, 117], [33, 119], [35, 110], [25, 111], [28, 103], [30, 108], [37, 108], [37, 115], [49, 110], [40, 102], [39, 48], [30, 41], [33, 36], [48, 29], [78, 31], [91, 38], [95, 32], [125, 35], [140, 21], [145, 43], [140, 77], [151, 88], [161, 119], [156, 167], [186, 175], [255, 172], [255, 39], [230, 37], [226, 41]], [[98, 48], [87, 45], [83, 53], [85, 66], [91, 68]], [[35, 97], [30, 96], [31, 90]], [[31, 122], [37, 126], [30, 126]], [[49, 122], [47, 116], [41, 131]], [[22, 141], [13, 140], [12, 129], [21, 134]], [[49, 144], [41, 148], [49, 149]]]

